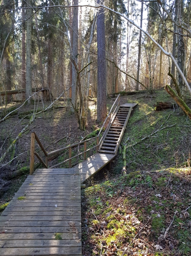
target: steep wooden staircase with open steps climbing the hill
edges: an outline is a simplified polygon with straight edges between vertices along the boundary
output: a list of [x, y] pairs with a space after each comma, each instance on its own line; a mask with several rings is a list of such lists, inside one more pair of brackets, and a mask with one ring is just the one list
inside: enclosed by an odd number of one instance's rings
[[137, 104], [123, 104], [118, 107], [99, 147], [99, 153], [116, 155], [133, 107]]

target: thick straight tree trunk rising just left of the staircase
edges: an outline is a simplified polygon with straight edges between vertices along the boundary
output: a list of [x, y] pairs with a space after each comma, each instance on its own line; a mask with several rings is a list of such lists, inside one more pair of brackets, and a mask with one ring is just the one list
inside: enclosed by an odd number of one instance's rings
[[[97, 1], [99, 4], [100, 1]], [[97, 95], [97, 122], [104, 121], [107, 116], [106, 105], [106, 52], [105, 52], [105, 23], [104, 9], [100, 8], [97, 18], [97, 48], [98, 48], [98, 95]]]

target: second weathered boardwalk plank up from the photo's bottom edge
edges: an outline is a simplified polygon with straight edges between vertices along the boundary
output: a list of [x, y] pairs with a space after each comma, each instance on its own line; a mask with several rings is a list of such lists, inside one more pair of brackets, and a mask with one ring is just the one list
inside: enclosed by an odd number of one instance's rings
[[[42, 239], [42, 238], [41, 238]], [[75, 240], [8, 240], [0, 241], [0, 248], [50, 248], [50, 247], [79, 247], [81, 246], [81, 239]]]

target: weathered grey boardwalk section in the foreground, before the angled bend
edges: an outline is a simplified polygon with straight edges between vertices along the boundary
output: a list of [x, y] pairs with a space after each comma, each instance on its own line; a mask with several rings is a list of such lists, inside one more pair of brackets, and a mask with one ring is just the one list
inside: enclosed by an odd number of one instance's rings
[[0, 255], [82, 255], [80, 189], [74, 168], [29, 175], [0, 216]]

